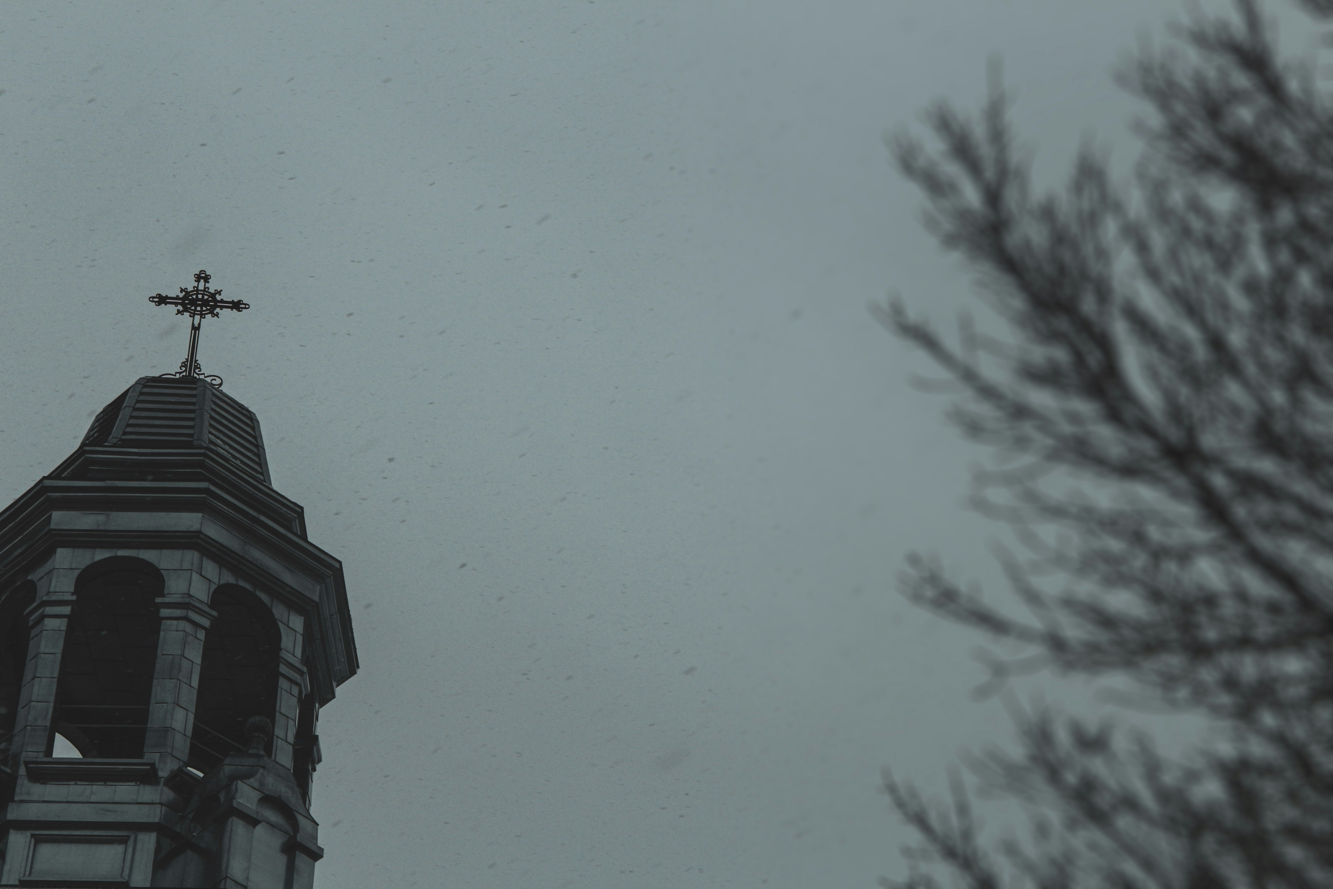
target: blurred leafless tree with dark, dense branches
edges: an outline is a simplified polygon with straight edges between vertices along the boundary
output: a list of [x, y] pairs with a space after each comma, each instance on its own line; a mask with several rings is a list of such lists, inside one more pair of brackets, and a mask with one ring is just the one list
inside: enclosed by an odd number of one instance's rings
[[1194, 9], [1122, 65], [1148, 108], [1122, 184], [1085, 145], [1033, 193], [997, 76], [977, 117], [926, 112], [936, 147], [889, 140], [1010, 335], [964, 317], [953, 347], [897, 300], [876, 315], [1004, 458], [973, 502], [1017, 532], [1000, 558], [1029, 614], [916, 554], [904, 593], [1026, 646], [992, 686], [1120, 677], [1210, 730], [1168, 756], [1122, 720], [1012, 706], [1016, 752], [968, 766], [1029, 836], [982, 842], [961, 780], [949, 806], [885, 772], [918, 842], [881, 885], [1333, 886], [1333, 104], [1273, 31], [1254, 0]]

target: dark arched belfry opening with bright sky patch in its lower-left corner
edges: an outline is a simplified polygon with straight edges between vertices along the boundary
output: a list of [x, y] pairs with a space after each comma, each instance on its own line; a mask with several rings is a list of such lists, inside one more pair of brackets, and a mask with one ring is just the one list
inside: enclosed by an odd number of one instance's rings
[[143, 757], [161, 592], [161, 572], [141, 558], [104, 558], [75, 580], [51, 745], [59, 733], [85, 757]]

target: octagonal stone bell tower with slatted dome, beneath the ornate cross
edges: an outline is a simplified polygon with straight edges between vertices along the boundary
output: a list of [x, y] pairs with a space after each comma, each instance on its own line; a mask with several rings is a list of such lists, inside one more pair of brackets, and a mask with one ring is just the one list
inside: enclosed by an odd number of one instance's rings
[[309, 889], [319, 712], [356, 669], [257, 417], [137, 380], [0, 512], [0, 886]]

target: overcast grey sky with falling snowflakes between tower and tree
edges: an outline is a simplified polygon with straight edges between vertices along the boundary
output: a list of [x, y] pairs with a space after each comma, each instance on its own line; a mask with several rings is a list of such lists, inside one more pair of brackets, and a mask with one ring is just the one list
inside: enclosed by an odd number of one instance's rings
[[[870, 886], [1002, 737], [993, 580], [930, 372], [872, 320], [969, 276], [881, 133], [990, 53], [1050, 175], [1161, 0], [17, 4], [0, 19], [0, 497], [185, 325], [344, 561], [323, 889]], [[998, 590], [997, 590], [998, 592]]]

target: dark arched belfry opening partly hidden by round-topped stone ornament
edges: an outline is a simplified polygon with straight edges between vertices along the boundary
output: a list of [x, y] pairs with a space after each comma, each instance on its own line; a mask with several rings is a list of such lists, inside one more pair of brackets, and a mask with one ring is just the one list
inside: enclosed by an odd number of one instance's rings
[[245, 721], [272, 720], [277, 710], [277, 620], [244, 586], [224, 584], [209, 605], [217, 612], [204, 634], [188, 765], [208, 772], [247, 748]]

